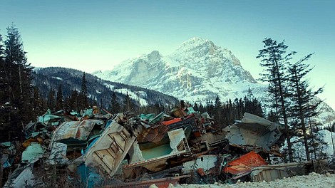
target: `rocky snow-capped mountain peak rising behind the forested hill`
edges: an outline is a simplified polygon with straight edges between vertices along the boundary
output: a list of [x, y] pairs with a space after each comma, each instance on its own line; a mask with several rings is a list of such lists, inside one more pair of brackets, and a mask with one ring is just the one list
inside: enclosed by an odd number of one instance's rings
[[231, 51], [202, 38], [185, 41], [169, 56], [153, 51], [94, 75], [158, 90], [192, 103], [215, 100], [217, 96], [223, 101], [243, 98], [248, 88], [254, 94], [265, 88], [242, 68]]

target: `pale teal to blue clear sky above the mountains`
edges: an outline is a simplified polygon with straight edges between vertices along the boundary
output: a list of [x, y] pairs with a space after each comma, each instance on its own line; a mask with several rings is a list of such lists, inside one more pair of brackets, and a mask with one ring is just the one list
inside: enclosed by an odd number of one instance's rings
[[259, 78], [264, 38], [284, 41], [308, 62], [310, 85], [335, 109], [335, 1], [88, 1], [1, 0], [0, 33], [15, 24], [31, 66], [86, 73], [157, 50], [163, 56], [192, 37], [232, 51]]

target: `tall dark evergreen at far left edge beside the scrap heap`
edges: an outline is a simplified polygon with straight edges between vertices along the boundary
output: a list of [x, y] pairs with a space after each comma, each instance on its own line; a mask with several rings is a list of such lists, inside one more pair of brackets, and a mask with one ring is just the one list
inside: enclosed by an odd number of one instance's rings
[[[1, 74], [6, 85], [3, 99], [9, 104], [8, 123], [11, 125], [8, 138], [23, 139], [22, 127], [34, 120], [31, 104], [31, 66], [26, 58], [24, 45], [18, 28], [12, 25], [7, 29], [4, 53], [1, 58]], [[2, 50], [1, 50], [2, 51]]]

